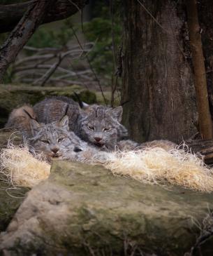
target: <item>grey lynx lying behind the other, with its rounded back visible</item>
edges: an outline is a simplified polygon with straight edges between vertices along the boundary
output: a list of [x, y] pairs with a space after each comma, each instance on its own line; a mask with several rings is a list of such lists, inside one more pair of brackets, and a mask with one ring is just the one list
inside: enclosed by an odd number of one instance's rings
[[92, 105], [80, 109], [78, 104], [68, 97], [52, 97], [34, 106], [38, 121], [51, 123], [57, 121], [66, 112], [69, 117], [69, 127], [82, 140], [95, 145], [99, 149], [115, 149], [117, 141], [128, 135], [120, 123], [122, 107], [103, 107]]

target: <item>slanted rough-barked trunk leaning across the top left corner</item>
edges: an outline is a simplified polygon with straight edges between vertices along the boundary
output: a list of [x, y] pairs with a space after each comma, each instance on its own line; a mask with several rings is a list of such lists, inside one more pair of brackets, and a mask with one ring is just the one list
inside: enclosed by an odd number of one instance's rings
[[15, 60], [31, 35], [34, 34], [53, 2], [54, 0], [43, 0], [31, 4], [13, 32], [8, 36], [0, 51], [0, 82], [6, 69]]

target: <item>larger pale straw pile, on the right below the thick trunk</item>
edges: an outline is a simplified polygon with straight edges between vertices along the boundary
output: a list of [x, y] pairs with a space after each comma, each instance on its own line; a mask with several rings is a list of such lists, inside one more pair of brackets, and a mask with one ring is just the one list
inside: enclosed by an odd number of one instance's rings
[[201, 156], [183, 149], [119, 152], [115, 159], [105, 163], [105, 168], [149, 184], [170, 182], [189, 189], [213, 191], [213, 170], [203, 163]]

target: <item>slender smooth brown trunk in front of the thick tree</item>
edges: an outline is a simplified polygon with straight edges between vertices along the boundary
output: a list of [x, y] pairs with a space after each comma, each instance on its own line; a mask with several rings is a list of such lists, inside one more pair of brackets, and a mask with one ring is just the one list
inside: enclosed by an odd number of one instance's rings
[[203, 46], [201, 41], [201, 30], [198, 21], [198, 9], [196, 0], [186, 1], [186, 8], [194, 80], [196, 86], [196, 100], [198, 105], [200, 135], [204, 139], [210, 140], [212, 139], [212, 116], [210, 114], [210, 106], [207, 93]]

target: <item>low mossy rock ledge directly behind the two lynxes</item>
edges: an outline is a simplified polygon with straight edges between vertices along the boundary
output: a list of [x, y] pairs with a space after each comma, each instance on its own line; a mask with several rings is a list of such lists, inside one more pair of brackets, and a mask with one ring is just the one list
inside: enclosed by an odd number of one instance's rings
[[90, 90], [85, 90], [80, 86], [69, 87], [39, 87], [39, 86], [13, 86], [0, 85], [0, 128], [4, 126], [8, 119], [8, 114], [15, 107], [20, 107], [24, 103], [35, 105], [45, 97], [63, 95], [76, 99], [75, 93], [80, 94], [81, 100], [88, 104], [96, 103], [96, 94]]

